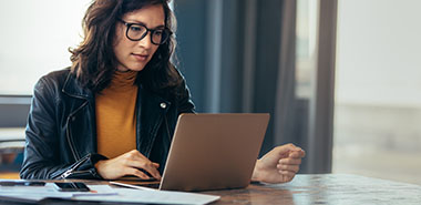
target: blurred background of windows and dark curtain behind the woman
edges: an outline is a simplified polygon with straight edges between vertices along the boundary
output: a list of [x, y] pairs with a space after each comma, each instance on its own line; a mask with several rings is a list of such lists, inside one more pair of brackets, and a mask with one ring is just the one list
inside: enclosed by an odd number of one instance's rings
[[[17, 177], [37, 80], [70, 65], [90, 0], [0, 0], [0, 177]], [[418, 0], [173, 0], [197, 112], [268, 112], [260, 153], [300, 173], [421, 184]], [[233, 147], [234, 150], [235, 147]]]

